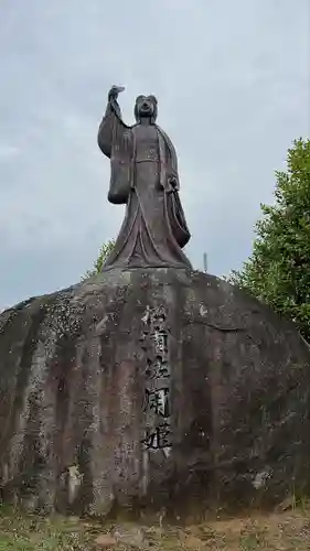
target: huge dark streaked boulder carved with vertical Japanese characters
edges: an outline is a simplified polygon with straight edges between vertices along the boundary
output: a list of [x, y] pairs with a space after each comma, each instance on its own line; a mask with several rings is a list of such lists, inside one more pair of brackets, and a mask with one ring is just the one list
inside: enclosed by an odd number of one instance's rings
[[309, 491], [310, 352], [185, 270], [105, 272], [0, 316], [0, 485], [32, 510], [189, 515]]

